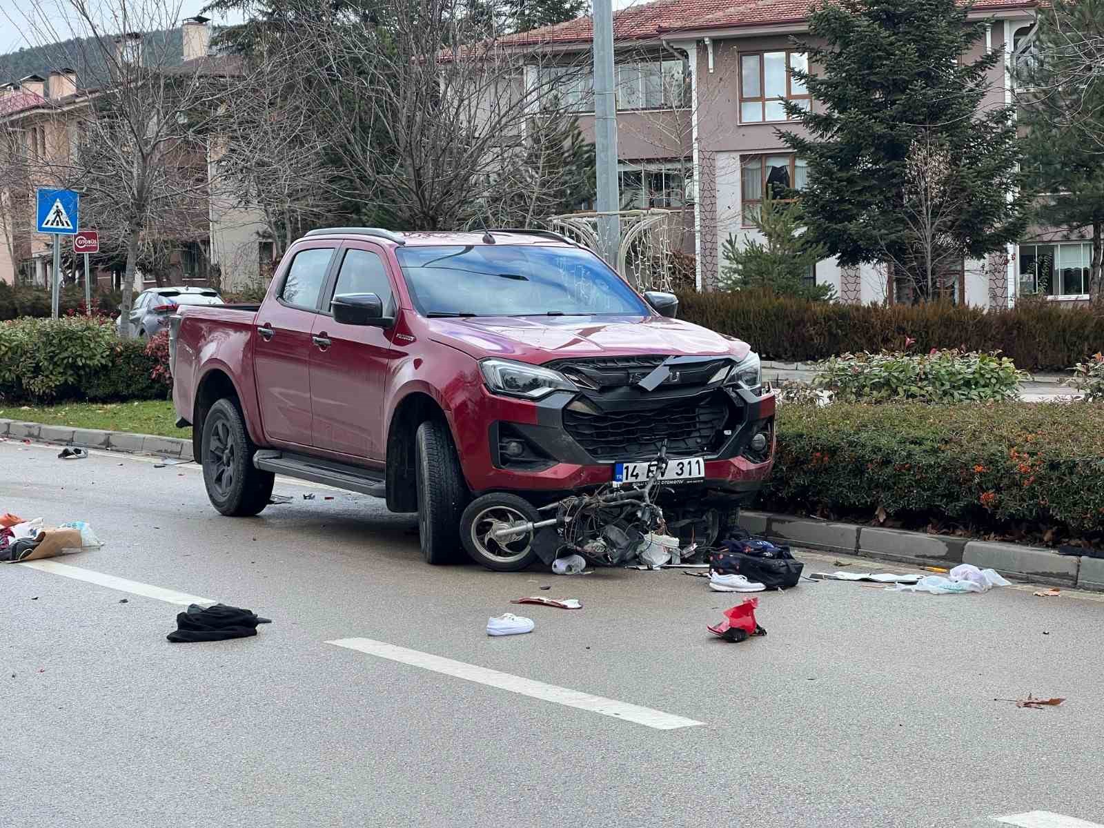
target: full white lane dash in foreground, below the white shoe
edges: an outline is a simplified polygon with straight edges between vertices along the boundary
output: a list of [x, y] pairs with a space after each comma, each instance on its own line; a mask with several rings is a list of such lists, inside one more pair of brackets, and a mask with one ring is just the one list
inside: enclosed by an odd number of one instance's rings
[[601, 696], [592, 696], [578, 690], [571, 690], [555, 684], [545, 684], [543, 681], [533, 681], [521, 676], [511, 676], [508, 672], [490, 670], [477, 665], [468, 665], [463, 661], [454, 661], [450, 658], [442, 658], [428, 652], [396, 647], [385, 641], [373, 641], [371, 638], [339, 638], [335, 641], [327, 641], [338, 647], [346, 647], [359, 652], [367, 652], [370, 656], [378, 656], [391, 661], [421, 667], [424, 670], [433, 670], [445, 676], [454, 676], [465, 681], [475, 681], [479, 684], [497, 687], [499, 690], [508, 690], [511, 693], [529, 696], [533, 699], [565, 704], [569, 708], [588, 710], [592, 713], [601, 713], [627, 722], [636, 722], [647, 728], [656, 730], [676, 730], [678, 728], [693, 728], [704, 722], [697, 722], [693, 719], [683, 719], [680, 715], [665, 713], [661, 710], [641, 708], [637, 704], [628, 704], [615, 699], [606, 699]]

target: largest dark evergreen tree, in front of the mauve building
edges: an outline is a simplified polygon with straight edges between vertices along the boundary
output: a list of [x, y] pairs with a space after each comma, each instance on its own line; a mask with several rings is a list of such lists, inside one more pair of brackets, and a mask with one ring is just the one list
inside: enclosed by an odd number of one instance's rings
[[[959, 214], [948, 242], [964, 255], [1000, 250], [1027, 223], [1012, 107], [980, 106], [1001, 55], [964, 60], [985, 36], [969, 11], [956, 0], [838, 0], [809, 19], [820, 45], [803, 47], [817, 68], [794, 76], [817, 105], [787, 102], [807, 137], [779, 134], [808, 162], [802, 202], [810, 241], [843, 267], [923, 258], [902, 213], [921, 136], [945, 148], [954, 170], [946, 198]], [[1009, 191], [1018, 193], [1012, 201]]]

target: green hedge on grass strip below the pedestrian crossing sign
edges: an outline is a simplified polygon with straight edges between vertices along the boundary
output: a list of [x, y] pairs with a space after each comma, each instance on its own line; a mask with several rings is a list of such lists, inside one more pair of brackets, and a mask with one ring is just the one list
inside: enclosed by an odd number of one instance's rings
[[121, 340], [115, 323], [81, 316], [0, 322], [0, 399], [163, 400], [159, 354]]

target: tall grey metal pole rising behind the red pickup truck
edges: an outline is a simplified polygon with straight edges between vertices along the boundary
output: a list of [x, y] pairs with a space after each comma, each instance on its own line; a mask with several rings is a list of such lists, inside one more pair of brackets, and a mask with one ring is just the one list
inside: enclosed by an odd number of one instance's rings
[[620, 247], [617, 187], [617, 104], [614, 99], [613, 0], [594, 0], [594, 149], [597, 163], [598, 253], [614, 269]]

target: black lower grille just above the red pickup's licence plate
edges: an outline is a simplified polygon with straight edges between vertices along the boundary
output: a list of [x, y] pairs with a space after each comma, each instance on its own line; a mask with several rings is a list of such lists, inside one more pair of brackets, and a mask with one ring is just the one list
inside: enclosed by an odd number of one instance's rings
[[609, 463], [655, 457], [664, 439], [672, 457], [709, 453], [719, 446], [728, 418], [729, 406], [720, 392], [650, 411], [563, 412], [567, 434], [594, 459]]

